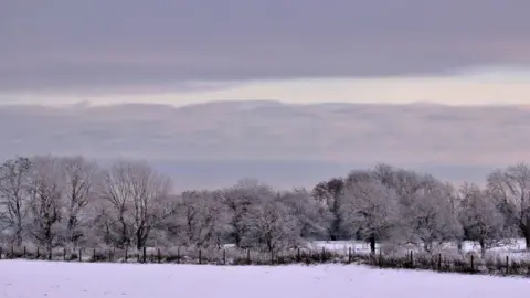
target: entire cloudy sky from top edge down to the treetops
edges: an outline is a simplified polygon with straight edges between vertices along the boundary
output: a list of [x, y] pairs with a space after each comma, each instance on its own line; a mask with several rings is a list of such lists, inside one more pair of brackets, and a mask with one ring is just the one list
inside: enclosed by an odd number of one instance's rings
[[[1, 0], [0, 156], [192, 160], [162, 163], [182, 179], [197, 170], [201, 185], [229, 168], [231, 180], [312, 183], [368, 161], [483, 177], [529, 157], [529, 11], [528, 0]], [[253, 99], [297, 105], [232, 103]], [[231, 103], [181, 107], [215, 100]], [[458, 107], [300, 105], [416, 102]], [[100, 107], [118, 103], [169, 105]], [[506, 104], [526, 107], [462, 107]], [[224, 163], [204, 170], [206, 157]]]

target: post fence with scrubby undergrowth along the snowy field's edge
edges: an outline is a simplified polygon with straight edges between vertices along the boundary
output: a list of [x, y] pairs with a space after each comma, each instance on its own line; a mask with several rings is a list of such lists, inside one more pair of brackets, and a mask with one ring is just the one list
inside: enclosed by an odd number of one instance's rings
[[106, 263], [139, 263], [139, 264], [198, 264], [198, 265], [287, 265], [287, 264], [362, 264], [380, 268], [425, 269], [466, 274], [517, 275], [530, 277], [529, 259], [510, 259], [509, 256], [481, 258], [476, 255], [449, 256], [443, 254], [405, 254], [385, 255], [358, 253], [348, 249], [337, 251], [297, 248], [284, 252], [262, 252], [251, 249], [194, 249], [178, 247], [173, 249], [26, 249], [11, 246], [6, 249], [0, 246], [0, 259], [42, 259], [63, 262], [106, 262]]

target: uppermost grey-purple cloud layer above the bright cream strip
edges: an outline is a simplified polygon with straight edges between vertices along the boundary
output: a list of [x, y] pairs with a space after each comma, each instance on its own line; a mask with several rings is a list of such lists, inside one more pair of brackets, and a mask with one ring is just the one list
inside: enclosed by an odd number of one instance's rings
[[0, 11], [4, 91], [530, 62], [527, 0], [7, 0]]

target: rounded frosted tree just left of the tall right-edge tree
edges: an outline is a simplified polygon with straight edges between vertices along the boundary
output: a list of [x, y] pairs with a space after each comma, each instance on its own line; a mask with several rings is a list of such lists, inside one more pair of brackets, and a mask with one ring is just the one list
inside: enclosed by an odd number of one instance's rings
[[459, 220], [468, 240], [478, 242], [483, 256], [487, 249], [506, 244], [512, 236], [494, 196], [476, 184], [465, 184]]

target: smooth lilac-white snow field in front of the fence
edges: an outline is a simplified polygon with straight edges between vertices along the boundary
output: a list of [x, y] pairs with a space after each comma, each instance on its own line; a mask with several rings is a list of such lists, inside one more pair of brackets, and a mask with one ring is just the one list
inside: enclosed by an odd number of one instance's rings
[[198, 265], [0, 262], [0, 297], [524, 297], [530, 280], [363, 266], [222, 267]]

